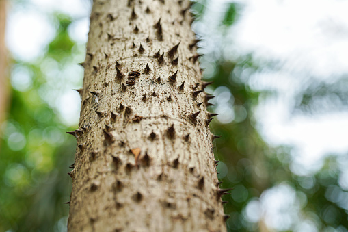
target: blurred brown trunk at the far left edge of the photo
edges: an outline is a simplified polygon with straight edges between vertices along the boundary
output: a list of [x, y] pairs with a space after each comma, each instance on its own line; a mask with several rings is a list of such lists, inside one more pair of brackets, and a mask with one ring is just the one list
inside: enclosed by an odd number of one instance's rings
[[[8, 106], [8, 79], [6, 73], [5, 49], [6, 1], [0, 0], [0, 125], [5, 120]], [[0, 132], [1, 136], [1, 132]]]

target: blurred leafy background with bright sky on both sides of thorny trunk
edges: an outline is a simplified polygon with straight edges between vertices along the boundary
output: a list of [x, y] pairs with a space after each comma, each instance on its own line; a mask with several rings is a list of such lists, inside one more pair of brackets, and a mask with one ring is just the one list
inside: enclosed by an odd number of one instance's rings
[[[76, 144], [65, 131], [79, 117], [72, 89], [90, 4], [8, 2], [0, 231], [66, 231]], [[328, 4], [193, 5], [204, 78], [214, 81], [206, 91], [217, 95], [219, 179], [235, 188], [224, 196], [228, 231], [348, 231], [348, 5]], [[319, 13], [306, 20], [313, 5]]]

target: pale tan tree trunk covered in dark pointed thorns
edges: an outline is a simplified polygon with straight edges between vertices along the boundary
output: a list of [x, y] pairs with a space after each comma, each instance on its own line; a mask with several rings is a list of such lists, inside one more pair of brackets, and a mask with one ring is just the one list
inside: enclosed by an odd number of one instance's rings
[[95, 1], [69, 231], [226, 231], [189, 1]]

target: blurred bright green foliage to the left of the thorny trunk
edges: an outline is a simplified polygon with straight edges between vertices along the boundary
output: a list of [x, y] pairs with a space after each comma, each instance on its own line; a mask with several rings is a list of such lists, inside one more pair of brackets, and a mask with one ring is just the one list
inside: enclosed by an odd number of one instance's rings
[[0, 231], [66, 231], [68, 205], [62, 203], [70, 201], [66, 173], [76, 144], [64, 132], [72, 128], [60, 122], [44, 99], [47, 77], [40, 66], [48, 59], [64, 66], [75, 43], [68, 36], [69, 18], [57, 14], [55, 19], [57, 36], [45, 56], [11, 64], [12, 70], [30, 70], [32, 83], [24, 91], [12, 89], [10, 110], [1, 126]]

